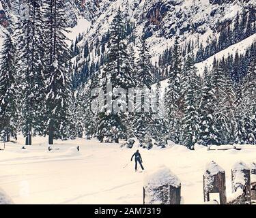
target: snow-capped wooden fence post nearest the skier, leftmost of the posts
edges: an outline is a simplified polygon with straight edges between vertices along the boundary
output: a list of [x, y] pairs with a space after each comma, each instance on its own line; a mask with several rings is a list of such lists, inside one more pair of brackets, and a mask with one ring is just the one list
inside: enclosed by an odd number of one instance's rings
[[165, 166], [145, 173], [143, 204], [180, 204], [180, 179]]

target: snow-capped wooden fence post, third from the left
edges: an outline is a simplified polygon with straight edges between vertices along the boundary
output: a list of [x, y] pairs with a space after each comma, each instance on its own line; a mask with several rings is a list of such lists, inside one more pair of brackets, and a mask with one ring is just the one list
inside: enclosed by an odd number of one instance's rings
[[236, 204], [251, 204], [251, 170], [242, 161], [235, 163], [231, 170], [232, 191], [242, 189], [243, 195]]

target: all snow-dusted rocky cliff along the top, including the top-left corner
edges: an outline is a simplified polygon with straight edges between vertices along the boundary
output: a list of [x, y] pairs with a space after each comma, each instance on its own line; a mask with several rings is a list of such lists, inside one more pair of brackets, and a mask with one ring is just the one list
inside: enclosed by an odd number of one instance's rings
[[[0, 1], [0, 29], [12, 27], [21, 1]], [[91, 22], [81, 40], [83, 46], [108, 31], [120, 7], [135, 23], [136, 35], [145, 34], [152, 55], [158, 55], [173, 43], [176, 34], [184, 43], [197, 40], [207, 44], [208, 37], [218, 37], [221, 22], [231, 22], [237, 13], [255, 6], [256, 0], [68, 0], [66, 18], [69, 27], [75, 27], [81, 18]]]

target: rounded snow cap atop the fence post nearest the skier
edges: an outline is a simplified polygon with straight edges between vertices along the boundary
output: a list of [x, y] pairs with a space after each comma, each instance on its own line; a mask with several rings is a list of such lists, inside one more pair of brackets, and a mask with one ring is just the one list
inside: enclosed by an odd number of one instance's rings
[[162, 185], [180, 187], [180, 179], [169, 168], [161, 166], [157, 170], [145, 173], [143, 185], [144, 187], [160, 187]]

